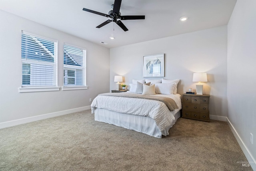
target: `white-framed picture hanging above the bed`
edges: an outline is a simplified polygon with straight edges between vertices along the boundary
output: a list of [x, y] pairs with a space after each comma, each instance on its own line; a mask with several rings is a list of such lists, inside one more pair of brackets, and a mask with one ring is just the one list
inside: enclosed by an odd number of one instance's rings
[[164, 54], [143, 56], [143, 78], [164, 77]]

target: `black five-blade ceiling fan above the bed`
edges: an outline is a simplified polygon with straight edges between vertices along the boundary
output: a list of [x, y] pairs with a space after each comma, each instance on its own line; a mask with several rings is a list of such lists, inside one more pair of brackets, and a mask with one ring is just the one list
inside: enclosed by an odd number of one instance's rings
[[103, 22], [102, 24], [98, 25], [96, 28], [101, 28], [102, 26], [105, 26], [106, 24], [110, 22], [115, 22], [120, 28], [122, 28], [125, 32], [128, 31], [128, 28], [124, 26], [121, 20], [144, 20], [145, 16], [121, 16], [120, 7], [121, 7], [122, 0], [115, 0], [114, 4], [111, 5], [113, 10], [110, 10], [108, 14], [103, 14], [101, 12], [89, 10], [86, 8], [83, 8], [84, 11], [92, 12], [94, 14], [98, 14], [104, 17], [110, 18], [109, 20]]

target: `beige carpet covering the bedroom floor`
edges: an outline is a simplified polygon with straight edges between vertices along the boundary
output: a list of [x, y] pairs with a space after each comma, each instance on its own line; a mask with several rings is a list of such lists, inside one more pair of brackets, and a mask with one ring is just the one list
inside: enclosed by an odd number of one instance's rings
[[228, 124], [180, 118], [159, 139], [90, 110], [0, 129], [0, 171], [252, 170]]

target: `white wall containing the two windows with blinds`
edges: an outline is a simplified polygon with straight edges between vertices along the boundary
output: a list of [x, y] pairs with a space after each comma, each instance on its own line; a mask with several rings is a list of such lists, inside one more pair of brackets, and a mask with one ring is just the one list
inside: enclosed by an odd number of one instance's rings
[[[93, 99], [99, 93], [109, 92], [110, 50], [108, 48], [2, 10], [0, 16], [0, 123], [81, 107], [90, 108], [89, 98]], [[64, 42], [85, 48], [88, 89], [19, 93], [18, 88], [22, 84], [21, 30], [58, 40], [59, 87], [63, 85]]]

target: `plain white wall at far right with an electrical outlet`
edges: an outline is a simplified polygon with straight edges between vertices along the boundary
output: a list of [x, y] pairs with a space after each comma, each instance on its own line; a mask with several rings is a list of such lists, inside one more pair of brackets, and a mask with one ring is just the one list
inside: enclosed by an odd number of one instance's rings
[[[228, 119], [256, 170], [256, 1], [238, 0], [228, 23]], [[254, 144], [250, 143], [250, 133]], [[242, 143], [242, 144], [241, 144]], [[243, 148], [242, 148], [243, 149]], [[244, 149], [243, 149], [244, 150]], [[244, 151], [246, 154], [246, 151]], [[250, 158], [251, 157], [251, 158]]]

